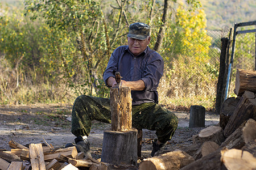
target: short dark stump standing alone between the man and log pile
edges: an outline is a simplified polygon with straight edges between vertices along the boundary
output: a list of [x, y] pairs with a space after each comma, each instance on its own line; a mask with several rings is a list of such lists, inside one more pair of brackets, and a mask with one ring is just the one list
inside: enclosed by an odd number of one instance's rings
[[205, 108], [201, 105], [192, 105], [190, 108], [188, 128], [205, 126]]

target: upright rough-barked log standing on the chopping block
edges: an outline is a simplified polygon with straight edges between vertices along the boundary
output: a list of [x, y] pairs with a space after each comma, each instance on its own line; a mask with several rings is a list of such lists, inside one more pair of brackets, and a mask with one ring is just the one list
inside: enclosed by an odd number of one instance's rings
[[130, 87], [110, 88], [111, 126], [113, 131], [131, 129]]

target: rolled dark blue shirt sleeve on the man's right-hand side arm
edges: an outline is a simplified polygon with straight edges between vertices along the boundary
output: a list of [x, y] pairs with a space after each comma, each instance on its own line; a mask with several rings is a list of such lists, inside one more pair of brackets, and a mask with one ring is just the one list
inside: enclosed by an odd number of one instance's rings
[[145, 91], [156, 91], [160, 78], [163, 76], [163, 69], [163, 58], [158, 53], [154, 54], [154, 57], [149, 59], [142, 76]]

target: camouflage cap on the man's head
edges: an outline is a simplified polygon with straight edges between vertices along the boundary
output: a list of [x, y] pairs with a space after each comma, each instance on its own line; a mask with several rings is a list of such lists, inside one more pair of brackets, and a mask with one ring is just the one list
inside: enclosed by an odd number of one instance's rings
[[129, 33], [127, 37], [133, 39], [144, 40], [150, 35], [150, 27], [144, 23], [130, 24]]

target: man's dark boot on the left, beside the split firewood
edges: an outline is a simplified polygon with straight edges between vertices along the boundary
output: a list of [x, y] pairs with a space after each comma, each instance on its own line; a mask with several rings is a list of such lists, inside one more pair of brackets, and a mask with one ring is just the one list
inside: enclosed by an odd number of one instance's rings
[[77, 152], [84, 152], [84, 156], [92, 156], [90, 154], [90, 142], [87, 139], [83, 139], [81, 136], [75, 138], [75, 143], [68, 143], [65, 147], [76, 146]]

